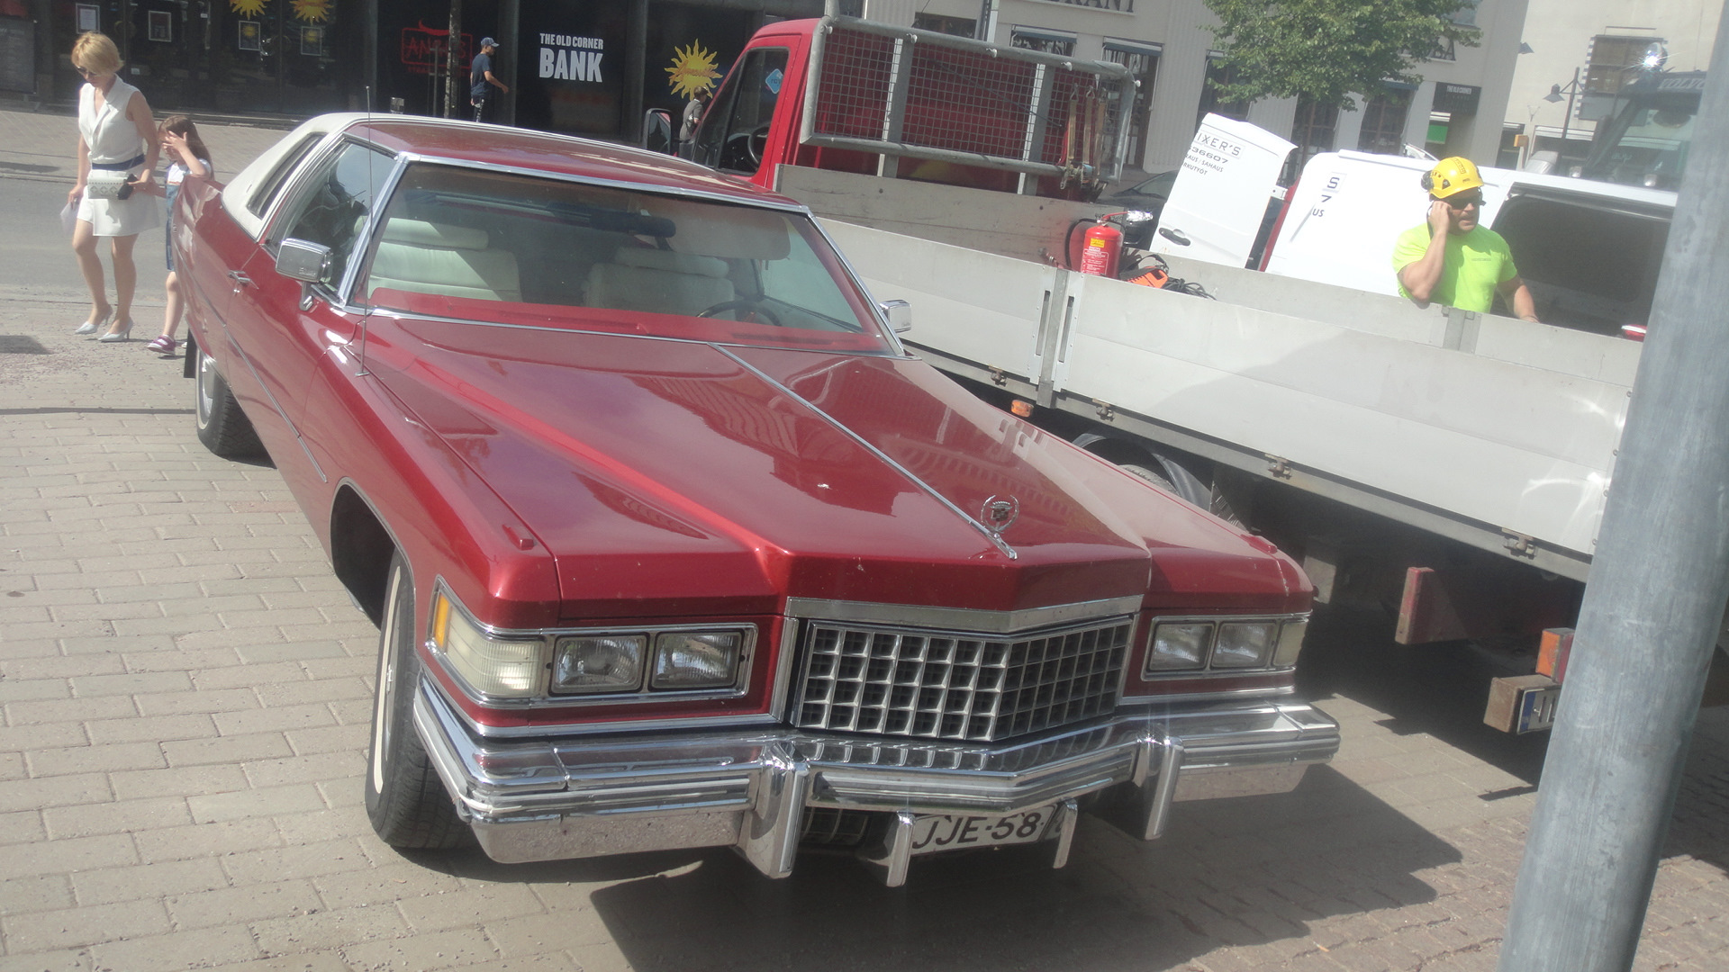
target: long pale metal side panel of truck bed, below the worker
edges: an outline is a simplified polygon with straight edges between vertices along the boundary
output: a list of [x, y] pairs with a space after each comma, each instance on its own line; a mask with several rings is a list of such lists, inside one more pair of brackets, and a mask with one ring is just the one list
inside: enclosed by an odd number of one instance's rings
[[1591, 552], [1629, 387], [1103, 278], [1056, 384]]

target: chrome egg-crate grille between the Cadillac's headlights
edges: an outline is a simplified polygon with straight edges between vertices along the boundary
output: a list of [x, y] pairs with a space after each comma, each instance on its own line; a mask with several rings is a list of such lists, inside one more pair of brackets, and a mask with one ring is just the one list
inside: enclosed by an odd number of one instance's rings
[[1131, 617], [1032, 635], [807, 621], [801, 728], [994, 742], [1117, 706]]

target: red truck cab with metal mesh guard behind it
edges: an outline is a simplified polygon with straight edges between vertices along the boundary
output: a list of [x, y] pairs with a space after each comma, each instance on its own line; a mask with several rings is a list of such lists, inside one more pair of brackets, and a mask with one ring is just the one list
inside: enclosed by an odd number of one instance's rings
[[[686, 149], [778, 187], [780, 166], [1091, 199], [1120, 175], [1120, 64], [851, 17], [759, 29]], [[657, 123], [660, 125], [660, 123]]]

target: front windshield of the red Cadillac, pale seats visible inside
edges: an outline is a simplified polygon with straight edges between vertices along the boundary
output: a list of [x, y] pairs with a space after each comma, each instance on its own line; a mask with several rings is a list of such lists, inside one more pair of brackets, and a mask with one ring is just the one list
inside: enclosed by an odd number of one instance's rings
[[373, 237], [358, 297], [380, 310], [890, 351], [797, 213], [415, 163]]

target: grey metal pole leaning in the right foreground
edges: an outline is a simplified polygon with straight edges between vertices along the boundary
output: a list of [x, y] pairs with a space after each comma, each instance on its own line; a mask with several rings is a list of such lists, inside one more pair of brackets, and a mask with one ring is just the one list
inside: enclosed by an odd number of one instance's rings
[[1501, 972], [1625, 972], [1729, 598], [1729, 17], [1720, 21]]

